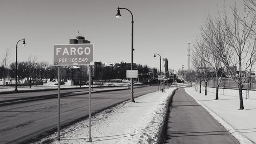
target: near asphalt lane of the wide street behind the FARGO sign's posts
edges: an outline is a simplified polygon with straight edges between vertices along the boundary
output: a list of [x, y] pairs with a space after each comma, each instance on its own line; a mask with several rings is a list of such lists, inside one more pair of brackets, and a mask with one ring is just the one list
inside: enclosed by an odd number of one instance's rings
[[[137, 95], [157, 91], [157, 86], [134, 89]], [[35, 93], [35, 92], [33, 92]], [[131, 90], [92, 93], [92, 112], [130, 99]], [[88, 115], [88, 94], [61, 98], [61, 125]], [[27, 142], [56, 129], [57, 99], [38, 100], [0, 107], [0, 143]]]

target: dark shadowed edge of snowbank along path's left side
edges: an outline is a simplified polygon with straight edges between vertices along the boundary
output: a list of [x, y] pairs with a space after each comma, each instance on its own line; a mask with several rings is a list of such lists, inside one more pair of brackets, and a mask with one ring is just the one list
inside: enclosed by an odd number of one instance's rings
[[159, 128], [159, 135], [158, 135], [157, 143], [163, 143], [163, 140], [164, 140], [163, 132], [167, 129], [168, 115], [170, 113], [169, 107], [172, 106], [174, 94], [175, 94], [176, 90], [178, 90], [178, 89], [179, 89], [178, 87], [175, 88], [173, 90], [172, 94], [169, 95], [169, 98], [167, 100], [167, 105], [165, 108], [165, 115], [163, 117], [163, 119], [164, 119], [163, 125]]

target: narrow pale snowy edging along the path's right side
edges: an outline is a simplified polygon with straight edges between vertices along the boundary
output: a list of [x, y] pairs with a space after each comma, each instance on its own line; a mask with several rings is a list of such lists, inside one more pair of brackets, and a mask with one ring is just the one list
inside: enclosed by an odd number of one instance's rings
[[209, 108], [207, 108], [204, 104], [202, 104], [200, 101], [198, 101], [192, 94], [190, 94], [189, 92], [187, 92], [187, 90], [185, 89], [185, 92], [190, 95], [190, 97], [192, 97], [193, 99], [195, 99], [195, 101], [201, 105], [205, 110], [207, 110], [209, 112], [209, 114], [214, 117], [218, 123], [220, 123], [234, 138], [236, 138], [239, 143], [250, 143], [253, 144], [254, 142], [250, 141], [249, 139], [247, 139], [245, 136], [243, 136], [242, 134], [240, 134], [236, 129], [234, 129], [233, 127], [231, 127], [227, 122], [224, 121], [224, 119], [222, 119], [220, 116], [218, 116], [215, 112], [211, 111]]

